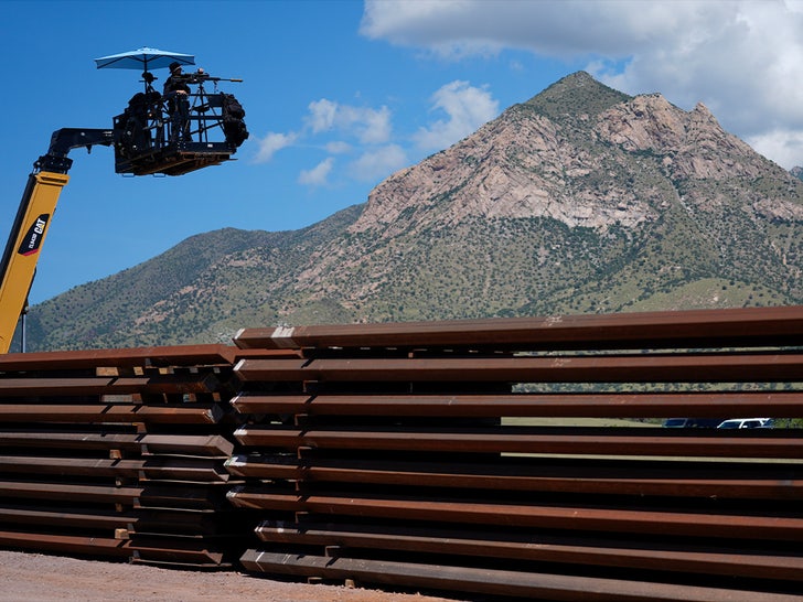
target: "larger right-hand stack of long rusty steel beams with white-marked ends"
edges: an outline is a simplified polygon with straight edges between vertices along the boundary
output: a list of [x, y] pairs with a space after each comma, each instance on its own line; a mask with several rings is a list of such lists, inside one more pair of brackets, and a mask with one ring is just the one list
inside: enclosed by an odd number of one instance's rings
[[243, 350], [302, 357], [235, 367], [229, 499], [263, 518], [242, 562], [543, 600], [797, 599], [800, 431], [659, 419], [803, 418], [802, 340], [803, 308], [244, 330]]

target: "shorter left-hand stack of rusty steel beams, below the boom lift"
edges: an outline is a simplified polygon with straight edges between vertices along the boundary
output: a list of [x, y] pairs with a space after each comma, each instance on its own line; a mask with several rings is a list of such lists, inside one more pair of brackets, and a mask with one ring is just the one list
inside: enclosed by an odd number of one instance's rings
[[0, 357], [0, 546], [231, 565], [232, 361], [223, 346]]

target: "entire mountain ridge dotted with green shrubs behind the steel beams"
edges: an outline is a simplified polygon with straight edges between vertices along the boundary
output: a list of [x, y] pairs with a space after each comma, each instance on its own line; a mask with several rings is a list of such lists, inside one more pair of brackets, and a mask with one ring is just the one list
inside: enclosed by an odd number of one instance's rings
[[570, 75], [367, 203], [223, 229], [32, 308], [29, 347], [242, 327], [796, 304], [803, 182], [698, 105]]

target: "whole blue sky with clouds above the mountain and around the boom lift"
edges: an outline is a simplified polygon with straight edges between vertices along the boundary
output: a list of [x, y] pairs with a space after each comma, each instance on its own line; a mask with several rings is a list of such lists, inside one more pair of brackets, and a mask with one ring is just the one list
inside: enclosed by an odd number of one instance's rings
[[[62, 127], [107, 128], [139, 74], [94, 58], [150, 46], [193, 54], [246, 109], [237, 161], [124, 178], [78, 149], [31, 301], [223, 227], [297, 229], [515, 103], [586, 69], [628, 94], [703, 101], [784, 168], [803, 164], [800, 2], [265, 0], [0, 2], [7, 118], [0, 232]], [[165, 71], [157, 71], [163, 82]], [[800, 157], [800, 161], [797, 161]]]

